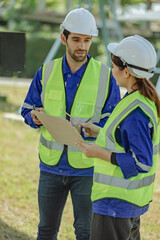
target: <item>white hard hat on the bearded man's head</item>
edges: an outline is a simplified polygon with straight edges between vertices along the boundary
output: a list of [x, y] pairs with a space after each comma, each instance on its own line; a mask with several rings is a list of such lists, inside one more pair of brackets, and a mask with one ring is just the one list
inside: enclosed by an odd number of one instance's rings
[[98, 29], [93, 15], [84, 8], [77, 8], [70, 11], [60, 25], [60, 28], [72, 33], [98, 36]]

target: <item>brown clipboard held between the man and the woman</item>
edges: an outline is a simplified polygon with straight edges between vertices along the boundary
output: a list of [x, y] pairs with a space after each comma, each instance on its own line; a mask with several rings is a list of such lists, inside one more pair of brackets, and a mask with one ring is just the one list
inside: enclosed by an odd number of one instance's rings
[[78, 148], [76, 140], [83, 141], [83, 138], [71, 123], [59, 117], [54, 117], [43, 112], [33, 111], [43, 126], [48, 130], [54, 140], [58, 143]]

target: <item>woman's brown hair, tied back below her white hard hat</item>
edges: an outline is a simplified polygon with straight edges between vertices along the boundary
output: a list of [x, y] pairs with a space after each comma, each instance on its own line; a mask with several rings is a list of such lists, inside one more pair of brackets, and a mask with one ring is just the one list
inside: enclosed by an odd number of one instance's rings
[[[120, 70], [123, 70], [126, 67], [119, 57], [111, 54], [111, 59], [113, 63], [117, 67], [119, 67]], [[155, 90], [154, 85], [150, 81], [148, 81], [146, 78], [135, 77], [135, 79], [136, 79], [136, 83], [132, 86], [132, 89], [134, 89], [133, 87], [135, 85], [138, 86], [138, 90], [144, 97], [147, 97], [152, 102], [155, 102], [155, 105], [157, 107], [158, 117], [160, 118], [160, 98], [158, 96], [158, 93]]]

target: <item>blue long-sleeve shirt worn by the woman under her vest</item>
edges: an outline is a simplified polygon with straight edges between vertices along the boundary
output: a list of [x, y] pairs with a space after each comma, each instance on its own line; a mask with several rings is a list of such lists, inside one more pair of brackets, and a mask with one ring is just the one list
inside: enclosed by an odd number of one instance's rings
[[[124, 178], [130, 178], [145, 172], [136, 159], [147, 166], [152, 166], [153, 127], [148, 116], [140, 109], [135, 109], [116, 131], [116, 140], [125, 149], [125, 153], [116, 153], [116, 161]], [[132, 151], [131, 151], [132, 150]], [[93, 212], [119, 218], [135, 218], [148, 210], [149, 205], [138, 207], [118, 199], [103, 199], [93, 203]]]

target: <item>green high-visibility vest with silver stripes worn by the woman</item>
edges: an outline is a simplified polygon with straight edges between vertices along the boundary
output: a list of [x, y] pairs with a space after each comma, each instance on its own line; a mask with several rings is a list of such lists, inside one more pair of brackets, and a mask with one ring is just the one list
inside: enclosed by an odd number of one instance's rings
[[142, 164], [134, 156], [136, 164], [147, 172], [125, 179], [119, 166], [104, 160], [95, 159], [92, 201], [116, 198], [137, 206], [145, 206], [152, 200], [160, 132], [155, 103], [142, 96], [139, 91], [127, 95], [117, 104], [104, 128], [100, 130], [96, 144], [110, 152], [124, 153], [123, 146], [120, 146], [116, 141], [115, 131], [119, 124], [137, 107], [140, 107], [150, 118], [150, 123], [154, 128], [152, 138], [153, 166], [149, 167]]

